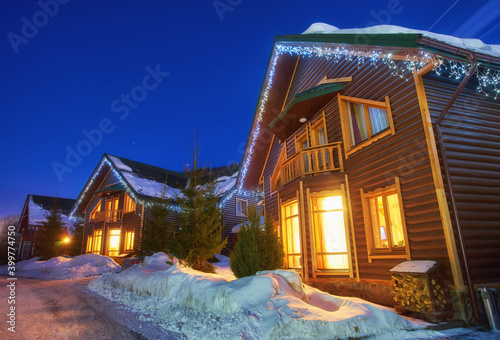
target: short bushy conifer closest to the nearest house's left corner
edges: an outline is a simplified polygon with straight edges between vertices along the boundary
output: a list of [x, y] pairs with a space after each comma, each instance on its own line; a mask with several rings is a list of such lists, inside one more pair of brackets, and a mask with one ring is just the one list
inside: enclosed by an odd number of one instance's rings
[[285, 253], [283, 244], [271, 220], [266, 220], [264, 230], [260, 223], [260, 214], [252, 206], [248, 212], [248, 221], [238, 233], [238, 241], [230, 255], [230, 266], [238, 278], [255, 275], [261, 270], [281, 269]]

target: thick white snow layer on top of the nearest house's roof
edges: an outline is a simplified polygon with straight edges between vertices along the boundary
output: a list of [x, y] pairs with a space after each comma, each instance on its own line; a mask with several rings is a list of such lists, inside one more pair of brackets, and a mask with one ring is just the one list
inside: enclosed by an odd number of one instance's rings
[[429, 31], [416, 30], [396, 25], [377, 25], [366, 28], [339, 29], [338, 27], [325, 23], [314, 23], [302, 34], [421, 34], [432, 40], [463, 48], [469, 51], [484, 53], [494, 57], [500, 57], [500, 45], [489, 45], [479, 39], [457, 38], [451, 35], [432, 33]]

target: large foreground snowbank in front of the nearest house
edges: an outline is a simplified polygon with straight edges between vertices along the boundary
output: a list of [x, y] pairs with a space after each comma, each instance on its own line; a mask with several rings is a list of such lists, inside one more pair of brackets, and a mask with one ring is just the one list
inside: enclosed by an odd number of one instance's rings
[[229, 275], [159, 263], [166, 258], [155, 254], [146, 265], [92, 280], [89, 288], [188, 338], [336, 339], [425, 326], [388, 308], [305, 286], [293, 271], [231, 280]]

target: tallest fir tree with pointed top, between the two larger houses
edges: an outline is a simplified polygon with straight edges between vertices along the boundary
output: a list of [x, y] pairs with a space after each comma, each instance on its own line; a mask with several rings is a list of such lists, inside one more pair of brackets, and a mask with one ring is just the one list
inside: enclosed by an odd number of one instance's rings
[[205, 169], [198, 165], [199, 149], [193, 151], [193, 164], [188, 169], [188, 183], [177, 196], [181, 209], [178, 229], [172, 242], [173, 254], [181, 263], [203, 272], [214, 273], [214, 266], [208, 262], [220, 253], [227, 243], [222, 237], [219, 196], [215, 183], [203, 183]]

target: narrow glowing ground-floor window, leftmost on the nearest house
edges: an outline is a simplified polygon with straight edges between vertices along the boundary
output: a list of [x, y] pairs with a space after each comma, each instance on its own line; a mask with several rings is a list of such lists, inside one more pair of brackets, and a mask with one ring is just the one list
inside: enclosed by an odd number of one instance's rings
[[283, 207], [283, 232], [287, 268], [300, 269], [300, 224], [296, 201]]

